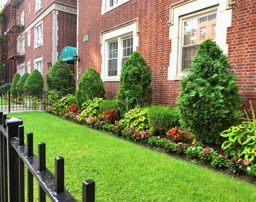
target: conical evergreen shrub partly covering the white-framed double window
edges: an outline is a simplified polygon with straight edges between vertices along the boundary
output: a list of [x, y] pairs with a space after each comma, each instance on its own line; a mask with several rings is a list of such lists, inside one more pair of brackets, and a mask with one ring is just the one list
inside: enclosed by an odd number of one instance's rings
[[151, 104], [151, 81], [152, 73], [148, 64], [137, 51], [133, 52], [121, 69], [121, 86], [116, 96], [122, 115], [135, 107]]

